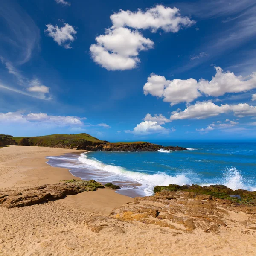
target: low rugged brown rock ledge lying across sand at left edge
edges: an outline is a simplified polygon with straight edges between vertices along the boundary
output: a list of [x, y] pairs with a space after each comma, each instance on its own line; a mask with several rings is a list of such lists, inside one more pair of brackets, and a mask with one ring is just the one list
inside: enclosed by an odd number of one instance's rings
[[95, 180], [63, 180], [58, 184], [36, 186], [20, 192], [3, 191], [0, 192], [0, 206], [14, 208], [42, 204], [65, 198], [67, 195], [95, 191], [98, 188], [104, 188], [104, 186]]

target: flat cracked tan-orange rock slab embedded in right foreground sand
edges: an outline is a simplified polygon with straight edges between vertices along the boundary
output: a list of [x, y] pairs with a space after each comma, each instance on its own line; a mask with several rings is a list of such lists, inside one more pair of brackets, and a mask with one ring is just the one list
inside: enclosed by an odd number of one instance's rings
[[[241, 212], [246, 216], [243, 220], [236, 216]], [[216, 233], [241, 223], [244, 232], [256, 229], [255, 206], [185, 191], [163, 190], [154, 196], [135, 198], [134, 202], [114, 209], [111, 216], [119, 221], [135, 221], [178, 232], [200, 229]]]

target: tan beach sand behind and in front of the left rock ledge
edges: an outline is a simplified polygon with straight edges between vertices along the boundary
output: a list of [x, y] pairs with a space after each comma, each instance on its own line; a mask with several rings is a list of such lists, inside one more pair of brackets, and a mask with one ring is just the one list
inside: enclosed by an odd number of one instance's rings
[[[71, 150], [1, 148], [0, 189], [74, 178], [67, 169], [45, 163], [46, 156], [68, 152]], [[255, 233], [237, 232], [239, 227], [221, 227], [219, 233], [205, 233], [199, 229], [180, 233], [108, 216], [113, 208], [132, 200], [106, 188], [46, 204], [12, 209], [0, 207], [0, 256], [256, 255]], [[244, 213], [236, 216], [239, 221], [247, 218]]]

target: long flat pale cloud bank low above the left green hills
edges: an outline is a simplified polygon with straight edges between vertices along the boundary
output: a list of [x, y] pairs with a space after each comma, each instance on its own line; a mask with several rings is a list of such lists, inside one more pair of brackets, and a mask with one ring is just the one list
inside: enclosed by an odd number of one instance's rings
[[53, 126], [78, 126], [83, 125], [84, 118], [76, 116], [48, 116], [46, 113], [22, 113], [8, 112], [0, 113], [1, 122], [23, 123], [23, 124], [38, 124], [38, 125], [53, 125]]

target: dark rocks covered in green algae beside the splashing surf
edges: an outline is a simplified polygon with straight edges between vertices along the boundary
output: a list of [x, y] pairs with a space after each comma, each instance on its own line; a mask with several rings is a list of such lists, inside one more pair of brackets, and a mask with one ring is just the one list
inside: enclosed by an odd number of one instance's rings
[[199, 186], [199, 185], [175, 185], [170, 184], [168, 186], [155, 186], [154, 193], [161, 191], [179, 192], [189, 191], [194, 192], [195, 195], [212, 195], [216, 198], [229, 199], [237, 203], [253, 204], [256, 205], [256, 191], [247, 191], [243, 189], [232, 190], [224, 185], [210, 185], [210, 186]]

